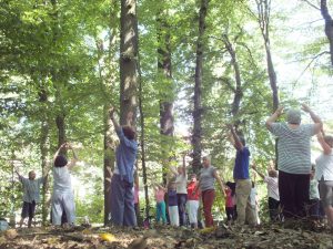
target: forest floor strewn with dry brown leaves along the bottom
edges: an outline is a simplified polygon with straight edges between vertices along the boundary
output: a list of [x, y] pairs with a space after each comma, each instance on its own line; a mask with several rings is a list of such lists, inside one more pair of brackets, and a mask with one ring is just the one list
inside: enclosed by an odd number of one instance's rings
[[333, 248], [333, 232], [309, 224], [221, 225], [215, 228], [157, 227], [154, 229], [54, 228], [10, 229], [0, 234], [0, 249], [172, 249], [172, 248]]

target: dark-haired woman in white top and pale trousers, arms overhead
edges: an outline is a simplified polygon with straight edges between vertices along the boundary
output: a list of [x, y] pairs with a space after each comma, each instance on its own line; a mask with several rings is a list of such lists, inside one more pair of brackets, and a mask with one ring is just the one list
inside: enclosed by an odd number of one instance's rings
[[[65, 156], [59, 155], [62, 149], [72, 149], [73, 158], [68, 163]], [[72, 146], [64, 143], [60, 146], [53, 157], [53, 194], [52, 194], [52, 225], [60, 226], [62, 214], [65, 214], [69, 225], [74, 225], [75, 221], [75, 204], [72, 191], [71, 169], [77, 163], [77, 154]]]

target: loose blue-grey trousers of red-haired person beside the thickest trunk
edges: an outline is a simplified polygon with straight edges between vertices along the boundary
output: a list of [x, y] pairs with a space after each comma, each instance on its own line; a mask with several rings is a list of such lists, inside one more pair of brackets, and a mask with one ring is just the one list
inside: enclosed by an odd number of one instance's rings
[[111, 180], [111, 222], [117, 226], [134, 227], [137, 217], [133, 204], [133, 185], [113, 174]]

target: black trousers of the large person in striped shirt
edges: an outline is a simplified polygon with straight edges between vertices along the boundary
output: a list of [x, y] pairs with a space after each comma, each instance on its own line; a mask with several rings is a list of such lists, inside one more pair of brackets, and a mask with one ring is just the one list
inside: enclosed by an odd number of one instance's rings
[[310, 175], [279, 172], [280, 203], [284, 218], [306, 216], [309, 203]]

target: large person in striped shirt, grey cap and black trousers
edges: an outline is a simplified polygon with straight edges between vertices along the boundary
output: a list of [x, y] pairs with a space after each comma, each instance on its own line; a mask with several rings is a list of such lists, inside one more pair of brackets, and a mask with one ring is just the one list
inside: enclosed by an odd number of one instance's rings
[[286, 123], [276, 123], [282, 114], [280, 106], [268, 120], [268, 129], [278, 137], [279, 193], [284, 219], [306, 216], [311, 173], [311, 137], [323, 124], [321, 118], [305, 104], [314, 124], [301, 124], [301, 111], [291, 108]]

